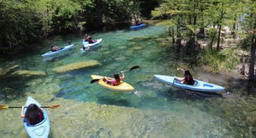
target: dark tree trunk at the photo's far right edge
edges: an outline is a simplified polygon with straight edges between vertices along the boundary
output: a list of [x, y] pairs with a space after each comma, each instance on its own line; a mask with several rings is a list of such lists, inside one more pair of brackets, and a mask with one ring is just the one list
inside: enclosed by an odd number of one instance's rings
[[254, 81], [254, 62], [255, 62], [255, 49], [256, 49], [256, 40], [255, 40], [255, 32], [252, 35], [252, 41], [251, 41], [251, 61], [249, 66], [249, 80]]

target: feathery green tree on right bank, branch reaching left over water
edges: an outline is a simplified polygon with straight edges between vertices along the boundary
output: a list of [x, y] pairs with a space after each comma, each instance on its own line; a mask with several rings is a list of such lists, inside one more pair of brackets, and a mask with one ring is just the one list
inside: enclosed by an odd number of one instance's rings
[[194, 49], [196, 47], [196, 29], [204, 26], [198, 22], [201, 14], [201, 1], [189, 0], [169, 0], [155, 8], [152, 11], [152, 16], [155, 18], [164, 17], [174, 23], [176, 26], [176, 43], [181, 45], [181, 39], [189, 40], [188, 47]]

